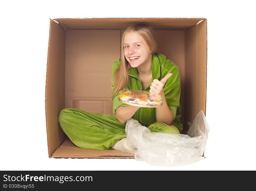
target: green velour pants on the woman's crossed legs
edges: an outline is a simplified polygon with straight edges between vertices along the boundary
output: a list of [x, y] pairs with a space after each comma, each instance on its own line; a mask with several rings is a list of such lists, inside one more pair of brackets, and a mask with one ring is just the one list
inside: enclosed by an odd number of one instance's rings
[[[70, 140], [86, 149], [112, 149], [116, 142], [126, 138], [125, 124], [109, 114], [88, 113], [79, 109], [67, 108], [60, 112], [59, 124]], [[156, 122], [148, 126], [151, 132], [179, 133], [174, 125]]]

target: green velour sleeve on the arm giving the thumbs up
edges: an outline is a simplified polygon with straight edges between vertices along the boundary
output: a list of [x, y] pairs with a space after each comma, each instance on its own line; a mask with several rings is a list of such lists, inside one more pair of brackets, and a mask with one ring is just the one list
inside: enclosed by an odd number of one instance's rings
[[171, 112], [173, 113], [173, 119], [176, 117], [177, 108], [179, 107], [180, 99], [180, 72], [179, 67], [176, 65], [170, 69], [168, 73], [173, 75], [166, 81], [163, 92], [166, 98], [166, 102]]

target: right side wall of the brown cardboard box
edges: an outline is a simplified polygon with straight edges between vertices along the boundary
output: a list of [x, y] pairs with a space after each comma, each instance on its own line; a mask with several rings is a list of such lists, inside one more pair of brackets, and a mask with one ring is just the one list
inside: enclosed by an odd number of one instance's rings
[[185, 118], [193, 122], [200, 110], [206, 112], [207, 20], [185, 33]]

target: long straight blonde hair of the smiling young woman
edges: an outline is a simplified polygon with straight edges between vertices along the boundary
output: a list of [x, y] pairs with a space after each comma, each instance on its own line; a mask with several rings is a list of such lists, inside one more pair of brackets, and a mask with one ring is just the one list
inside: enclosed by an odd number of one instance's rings
[[121, 63], [114, 73], [114, 88], [112, 92], [112, 98], [114, 97], [116, 92], [127, 88], [126, 86], [129, 81], [129, 69], [131, 68], [131, 65], [126, 60], [124, 55], [124, 38], [125, 38], [125, 35], [131, 31], [137, 32], [139, 35], [141, 35], [144, 38], [152, 54], [156, 53], [157, 51], [157, 42], [154, 37], [153, 29], [150, 26], [146, 24], [135, 24], [135, 25], [129, 26], [124, 31], [122, 35], [122, 41], [121, 41], [121, 47], [122, 47]]

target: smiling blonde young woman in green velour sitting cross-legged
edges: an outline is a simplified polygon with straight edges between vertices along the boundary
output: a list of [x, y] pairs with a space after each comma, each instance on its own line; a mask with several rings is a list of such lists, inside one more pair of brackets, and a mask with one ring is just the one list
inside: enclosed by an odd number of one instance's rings
[[[78, 109], [63, 109], [58, 121], [78, 147], [117, 149], [125, 144], [125, 124], [133, 118], [151, 132], [181, 133], [182, 124], [179, 68], [157, 53], [153, 30], [145, 24], [128, 27], [122, 36], [121, 58], [112, 67], [113, 115], [94, 114]], [[142, 108], [118, 100], [120, 90], [144, 90], [163, 97], [163, 105]], [[122, 145], [121, 145], [122, 144]], [[129, 145], [125, 146], [127, 150]], [[121, 149], [123, 150], [123, 149]]]

